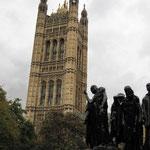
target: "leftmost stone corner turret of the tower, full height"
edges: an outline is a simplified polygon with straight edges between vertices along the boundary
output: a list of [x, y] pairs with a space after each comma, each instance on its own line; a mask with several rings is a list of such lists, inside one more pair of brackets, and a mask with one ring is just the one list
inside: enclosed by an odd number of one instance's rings
[[[45, 19], [47, 14], [47, 0], [41, 0], [38, 7], [38, 16], [36, 23], [36, 31], [34, 38], [33, 54], [32, 54], [32, 63], [30, 70], [30, 79], [28, 86], [28, 96], [26, 110], [27, 115], [26, 119], [30, 119], [34, 122], [34, 112], [31, 111], [30, 107], [37, 105], [37, 92], [39, 90], [39, 72], [40, 72], [40, 62], [43, 48], [44, 40], [44, 29], [45, 29]], [[32, 93], [32, 94], [31, 94]]]

